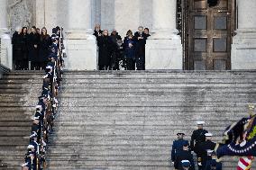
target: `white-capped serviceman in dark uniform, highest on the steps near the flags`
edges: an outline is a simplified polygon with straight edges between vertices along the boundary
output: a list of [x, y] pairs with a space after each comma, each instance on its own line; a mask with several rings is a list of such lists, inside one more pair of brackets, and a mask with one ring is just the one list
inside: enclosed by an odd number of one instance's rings
[[191, 136], [190, 148], [197, 154], [197, 164], [198, 170], [202, 170], [202, 157], [198, 155], [198, 149], [200, 144], [206, 141], [205, 134], [208, 133], [207, 130], [203, 129], [205, 121], [197, 121], [197, 130], [194, 130]]

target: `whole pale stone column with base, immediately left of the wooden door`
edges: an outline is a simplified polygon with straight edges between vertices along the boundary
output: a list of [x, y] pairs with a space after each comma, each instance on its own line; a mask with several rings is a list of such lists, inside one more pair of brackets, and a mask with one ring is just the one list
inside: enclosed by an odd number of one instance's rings
[[146, 44], [146, 69], [182, 69], [176, 5], [176, 0], [153, 0], [153, 29]]

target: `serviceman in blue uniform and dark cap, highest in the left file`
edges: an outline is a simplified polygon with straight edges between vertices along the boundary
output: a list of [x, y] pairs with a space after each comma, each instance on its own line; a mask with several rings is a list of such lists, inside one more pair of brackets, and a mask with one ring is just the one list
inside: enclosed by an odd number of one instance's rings
[[187, 140], [184, 140], [184, 133], [178, 133], [177, 134], [178, 139], [173, 141], [172, 148], [171, 148], [171, 162], [174, 164], [175, 156], [178, 153], [178, 151], [183, 149], [183, 143], [188, 142]]

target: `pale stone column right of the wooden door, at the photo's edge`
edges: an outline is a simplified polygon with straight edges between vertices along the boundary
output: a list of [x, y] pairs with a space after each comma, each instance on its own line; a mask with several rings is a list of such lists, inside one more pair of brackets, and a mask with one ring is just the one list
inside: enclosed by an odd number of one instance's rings
[[232, 69], [256, 69], [255, 0], [237, 1], [238, 23], [232, 45]]

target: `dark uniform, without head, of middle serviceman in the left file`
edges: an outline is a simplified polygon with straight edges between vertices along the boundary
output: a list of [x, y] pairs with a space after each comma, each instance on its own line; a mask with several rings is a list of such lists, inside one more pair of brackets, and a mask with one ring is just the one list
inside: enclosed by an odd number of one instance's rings
[[182, 164], [181, 164], [182, 160], [188, 160], [191, 164], [191, 166], [189, 167], [189, 170], [195, 170], [195, 164], [194, 164], [193, 156], [190, 153], [190, 151], [187, 151], [187, 150], [178, 151], [178, 153], [175, 157], [175, 161], [174, 161], [175, 169], [183, 170], [183, 167], [182, 167]]

